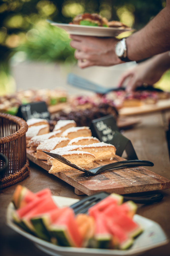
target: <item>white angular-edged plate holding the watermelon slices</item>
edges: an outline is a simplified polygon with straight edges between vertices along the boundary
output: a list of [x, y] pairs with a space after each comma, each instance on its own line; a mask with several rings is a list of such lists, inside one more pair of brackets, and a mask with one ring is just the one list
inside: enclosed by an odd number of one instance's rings
[[[62, 199], [62, 200], [61, 200]], [[58, 205], [69, 206], [79, 201], [78, 199], [53, 196], [53, 200], [58, 202]], [[143, 227], [143, 233], [134, 241], [133, 246], [128, 250], [109, 250], [109, 249], [93, 249], [93, 248], [75, 248], [75, 247], [62, 247], [52, 243], [46, 242], [40, 238], [32, 236], [31, 234], [23, 231], [12, 221], [12, 211], [14, 205], [9, 204], [7, 208], [6, 221], [7, 225], [21, 234], [22, 236], [31, 240], [37, 248], [52, 256], [107, 256], [107, 255], [141, 255], [145, 251], [162, 246], [168, 243], [168, 239], [160, 227], [160, 225], [152, 220], [144, 218], [135, 214], [134, 220]]]

